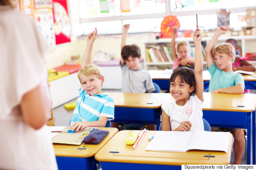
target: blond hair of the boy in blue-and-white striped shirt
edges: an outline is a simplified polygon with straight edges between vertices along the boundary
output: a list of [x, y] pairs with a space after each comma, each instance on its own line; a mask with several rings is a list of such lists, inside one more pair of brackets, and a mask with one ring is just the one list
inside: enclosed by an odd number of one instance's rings
[[79, 69], [77, 76], [79, 78], [80, 83], [82, 84], [80, 75], [84, 75], [84, 76], [95, 75], [99, 80], [102, 78], [102, 72], [100, 67], [94, 64], [88, 64], [84, 68]]

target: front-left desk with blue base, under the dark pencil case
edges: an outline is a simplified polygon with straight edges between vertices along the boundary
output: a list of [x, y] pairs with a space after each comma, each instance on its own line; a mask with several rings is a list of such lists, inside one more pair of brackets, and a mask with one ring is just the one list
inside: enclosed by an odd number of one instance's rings
[[53, 144], [59, 170], [96, 169], [94, 155], [118, 132], [114, 127], [98, 127], [98, 129], [109, 131], [99, 144]]

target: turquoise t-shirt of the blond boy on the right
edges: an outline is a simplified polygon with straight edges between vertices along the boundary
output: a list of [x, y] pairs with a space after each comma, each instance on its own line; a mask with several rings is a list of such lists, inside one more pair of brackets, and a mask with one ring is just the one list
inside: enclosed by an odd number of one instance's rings
[[216, 89], [235, 86], [238, 84], [244, 85], [242, 74], [236, 72], [224, 72], [218, 68], [215, 63], [213, 63], [210, 68], [208, 68], [208, 71], [211, 74], [209, 92], [212, 92]]

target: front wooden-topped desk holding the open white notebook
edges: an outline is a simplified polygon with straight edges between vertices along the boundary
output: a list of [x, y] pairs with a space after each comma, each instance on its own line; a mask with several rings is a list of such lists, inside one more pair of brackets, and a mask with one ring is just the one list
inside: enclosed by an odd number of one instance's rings
[[[189, 150], [187, 152], [163, 152], [145, 150], [150, 143], [148, 137], [157, 131], [148, 131], [137, 149], [126, 145], [124, 140], [130, 130], [118, 132], [110, 141], [100, 149], [95, 159], [102, 161], [102, 170], [180, 170], [184, 164], [229, 164], [231, 157], [232, 135], [228, 153], [222, 151]], [[119, 153], [110, 153], [110, 151]], [[215, 156], [215, 157], [204, 157]]]

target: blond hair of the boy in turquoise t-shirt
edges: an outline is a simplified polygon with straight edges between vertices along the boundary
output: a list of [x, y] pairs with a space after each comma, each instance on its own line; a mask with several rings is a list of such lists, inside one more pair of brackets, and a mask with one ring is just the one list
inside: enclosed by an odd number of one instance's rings
[[214, 57], [215, 55], [218, 54], [226, 54], [229, 55], [232, 54], [233, 55], [233, 60], [232, 63], [234, 63], [235, 60], [235, 48], [231, 43], [221, 43], [216, 45], [213, 49], [212, 49], [212, 56]]

